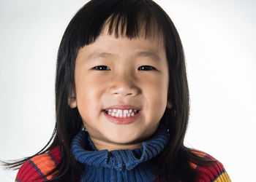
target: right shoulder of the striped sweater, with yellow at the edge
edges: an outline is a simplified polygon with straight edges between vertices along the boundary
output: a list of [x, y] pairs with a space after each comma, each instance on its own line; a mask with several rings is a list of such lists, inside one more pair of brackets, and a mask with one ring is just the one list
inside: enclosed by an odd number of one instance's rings
[[229, 182], [230, 177], [227, 174], [224, 166], [221, 162], [217, 161], [217, 159], [214, 159], [209, 154], [206, 154], [203, 151], [198, 151], [196, 149], [191, 149], [192, 153], [195, 154], [198, 157], [203, 157], [209, 160], [214, 160], [216, 163], [209, 166], [200, 166], [195, 165], [194, 163], [190, 163], [190, 165], [197, 170], [198, 176], [197, 176], [197, 182], [203, 182], [203, 181], [219, 181], [219, 182]]

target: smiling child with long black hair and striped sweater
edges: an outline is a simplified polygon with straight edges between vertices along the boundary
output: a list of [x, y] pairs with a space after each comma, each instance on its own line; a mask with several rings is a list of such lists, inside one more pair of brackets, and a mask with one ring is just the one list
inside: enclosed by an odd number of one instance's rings
[[189, 90], [170, 17], [151, 0], [91, 0], [62, 37], [56, 127], [16, 181], [230, 181], [184, 146]]

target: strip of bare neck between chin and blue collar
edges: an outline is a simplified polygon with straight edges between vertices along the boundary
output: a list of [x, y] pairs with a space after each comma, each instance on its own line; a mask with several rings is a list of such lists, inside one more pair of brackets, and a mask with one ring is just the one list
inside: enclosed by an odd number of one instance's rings
[[119, 143], [108, 143], [105, 141], [100, 141], [97, 138], [91, 137], [91, 141], [98, 151], [107, 149], [108, 151], [120, 150], [120, 149], [137, 149], [142, 146], [142, 143], [132, 143], [132, 144], [119, 144]]

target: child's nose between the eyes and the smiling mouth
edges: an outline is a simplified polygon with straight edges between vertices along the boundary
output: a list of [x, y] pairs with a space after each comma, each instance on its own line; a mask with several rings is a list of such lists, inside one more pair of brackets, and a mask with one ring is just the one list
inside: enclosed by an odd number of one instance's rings
[[110, 84], [110, 94], [120, 95], [122, 97], [135, 96], [140, 92], [136, 80], [132, 74], [122, 71], [116, 74]]

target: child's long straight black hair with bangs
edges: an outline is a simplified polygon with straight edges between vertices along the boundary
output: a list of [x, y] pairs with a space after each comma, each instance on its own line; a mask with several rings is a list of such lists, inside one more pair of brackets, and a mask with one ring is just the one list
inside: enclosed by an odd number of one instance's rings
[[[81, 47], [92, 44], [108, 24], [108, 33], [135, 39], [144, 31], [145, 37], [162, 37], [169, 69], [167, 100], [172, 108], [166, 108], [161, 121], [167, 125], [170, 139], [165, 149], [154, 157], [157, 166], [155, 181], [194, 181], [197, 171], [189, 162], [207, 165], [214, 161], [197, 157], [184, 146], [184, 136], [189, 121], [189, 88], [181, 39], [166, 12], [151, 0], [91, 0], [72, 18], [59, 46], [56, 66], [56, 125], [47, 145], [34, 154], [44, 154], [61, 146], [61, 162], [50, 173], [51, 181], [79, 181], [83, 167], [72, 155], [72, 138], [83, 127], [78, 108], [70, 108], [68, 99], [75, 90], [75, 60]], [[18, 162], [5, 163], [18, 168], [27, 157]]]

